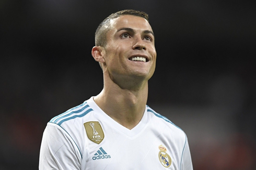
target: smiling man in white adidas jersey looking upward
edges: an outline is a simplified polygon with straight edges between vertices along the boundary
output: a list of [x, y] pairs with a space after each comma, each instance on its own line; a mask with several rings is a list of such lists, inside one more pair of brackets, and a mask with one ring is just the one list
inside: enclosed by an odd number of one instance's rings
[[91, 53], [103, 71], [103, 90], [48, 123], [39, 168], [193, 169], [185, 133], [146, 106], [156, 66], [147, 14], [116, 12], [95, 40]]

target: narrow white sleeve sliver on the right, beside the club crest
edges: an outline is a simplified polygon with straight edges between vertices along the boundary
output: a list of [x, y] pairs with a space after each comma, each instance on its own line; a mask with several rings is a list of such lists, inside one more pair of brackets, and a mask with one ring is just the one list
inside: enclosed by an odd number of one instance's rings
[[190, 149], [189, 149], [189, 143], [186, 136], [185, 145], [183, 149], [182, 159], [181, 159], [181, 169], [182, 170], [193, 170], [191, 155], [190, 155]]

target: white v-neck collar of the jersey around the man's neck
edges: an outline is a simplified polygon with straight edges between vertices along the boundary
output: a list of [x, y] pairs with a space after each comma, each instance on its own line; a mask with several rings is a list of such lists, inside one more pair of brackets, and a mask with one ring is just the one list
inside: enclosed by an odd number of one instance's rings
[[121, 124], [119, 124], [118, 122], [113, 120], [108, 114], [103, 112], [103, 110], [101, 110], [100, 107], [94, 101], [94, 97], [91, 97], [89, 100], [87, 100], [87, 103], [92, 108], [92, 110], [95, 111], [95, 114], [97, 114], [101, 117], [100, 120], [102, 122], [108, 123], [110, 126], [112, 126], [113, 128], [117, 129], [119, 132], [121, 132], [124, 135], [127, 135], [129, 137], [134, 137], [137, 134], [141, 133], [148, 121], [146, 106], [145, 106], [145, 111], [144, 111], [141, 121], [139, 121], [139, 123], [134, 128], [132, 128], [130, 130], [130, 129], [122, 126]]

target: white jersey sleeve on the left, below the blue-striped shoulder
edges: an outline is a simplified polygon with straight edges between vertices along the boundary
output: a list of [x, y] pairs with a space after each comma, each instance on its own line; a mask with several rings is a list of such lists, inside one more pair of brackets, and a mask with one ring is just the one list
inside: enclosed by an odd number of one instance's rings
[[80, 169], [82, 155], [72, 137], [59, 125], [46, 126], [39, 156], [39, 169]]

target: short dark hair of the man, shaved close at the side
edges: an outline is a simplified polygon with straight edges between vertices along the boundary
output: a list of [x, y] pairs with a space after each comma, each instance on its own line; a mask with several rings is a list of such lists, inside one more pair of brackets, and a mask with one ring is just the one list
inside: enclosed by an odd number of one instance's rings
[[104, 19], [100, 24], [99, 27], [97, 28], [96, 32], [95, 32], [95, 45], [96, 46], [106, 46], [107, 44], [107, 37], [106, 34], [109, 31], [109, 29], [107, 29], [110, 20], [118, 18], [122, 15], [132, 15], [132, 16], [137, 16], [137, 17], [142, 17], [145, 18], [148, 22], [148, 15], [146, 14], [146, 12], [143, 11], [137, 11], [137, 10], [133, 10], [133, 9], [125, 9], [125, 10], [121, 10], [118, 12], [115, 12], [113, 14], [111, 14], [110, 16], [108, 16], [106, 19]]

